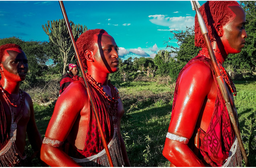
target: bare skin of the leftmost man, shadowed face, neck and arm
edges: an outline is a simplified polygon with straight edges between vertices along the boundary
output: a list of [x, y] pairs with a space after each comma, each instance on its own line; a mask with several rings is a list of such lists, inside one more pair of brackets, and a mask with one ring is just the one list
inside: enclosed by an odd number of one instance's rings
[[[28, 60], [27, 60], [26, 54], [22, 50], [17, 48], [9, 48], [4, 51], [4, 55], [0, 63], [0, 73], [1, 73], [0, 84], [2, 85], [4, 90], [6, 90], [14, 100], [20, 99], [19, 83], [25, 80], [27, 71], [28, 71]], [[24, 96], [25, 96], [25, 107], [22, 114], [22, 118], [17, 123], [15, 144], [19, 152], [23, 155], [25, 150], [25, 145], [26, 145], [26, 132], [27, 132], [28, 138], [33, 150], [39, 151], [40, 153], [42, 139], [36, 126], [33, 102], [28, 93], [24, 92]], [[2, 96], [1, 96], [1, 102], [5, 111], [7, 128], [9, 130], [10, 124], [11, 124], [11, 114], [9, 112], [10, 110], [7, 103], [2, 98]], [[21, 107], [11, 106], [11, 108], [14, 113], [14, 119], [15, 119]], [[39, 159], [40, 159], [40, 155], [39, 155]], [[43, 162], [42, 164], [43, 166], [47, 166]]]

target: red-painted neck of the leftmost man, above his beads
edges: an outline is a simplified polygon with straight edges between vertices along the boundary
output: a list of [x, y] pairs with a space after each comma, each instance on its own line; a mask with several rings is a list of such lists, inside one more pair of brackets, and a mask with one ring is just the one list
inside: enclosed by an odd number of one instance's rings
[[9, 94], [19, 94], [19, 82], [10, 81], [2, 77], [0, 84]]

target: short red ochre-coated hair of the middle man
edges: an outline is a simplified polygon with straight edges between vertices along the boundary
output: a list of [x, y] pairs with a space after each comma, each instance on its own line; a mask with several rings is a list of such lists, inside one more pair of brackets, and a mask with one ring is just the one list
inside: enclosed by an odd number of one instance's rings
[[77, 49], [78, 49], [79, 55], [81, 57], [81, 61], [82, 61], [84, 68], [87, 68], [87, 63], [86, 63], [86, 59], [84, 57], [84, 52], [86, 50], [89, 50], [89, 51], [94, 50], [94, 43], [93, 43], [94, 34], [98, 34], [98, 33], [108, 34], [108, 32], [106, 32], [104, 29], [91, 29], [91, 30], [87, 30], [86, 32], [81, 34], [76, 41]]

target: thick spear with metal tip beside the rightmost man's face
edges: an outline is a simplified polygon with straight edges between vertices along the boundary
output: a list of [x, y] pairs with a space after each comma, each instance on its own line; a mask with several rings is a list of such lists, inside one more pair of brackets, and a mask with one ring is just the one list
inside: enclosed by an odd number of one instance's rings
[[240, 131], [238, 129], [236, 119], [234, 118], [234, 111], [235, 110], [234, 110], [234, 107], [230, 103], [230, 99], [228, 97], [228, 89], [227, 89], [227, 86], [224, 82], [224, 79], [223, 79], [223, 77], [220, 73], [220, 70], [219, 70], [219, 67], [218, 67], [218, 64], [217, 64], [217, 60], [216, 60], [216, 57], [215, 57], [214, 52], [213, 52], [213, 48], [212, 48], [211, 40], [210, 40], [210, 37], [209, 37], [209, 34], [208, 34], [208, 30], [206, 28], [204, 19], [203, 19], [202, 15], [201, 15], [201, 13], [198, 9], [200, 7], [200, 4], [199, 4], [198, 1], [190, 1], [190, 2], [191, 2], [191, 5], [192, 5], [192, 9], [196, 10], [198, 23], [199, 23], [202, 35], [204, 37], [205, 44], [206, 44], [208, 53], [210, 55], [211, 63], [213, 65], [213, 69], [214, 69], [214, 72], [215, 72], [215, 78], [217, 80], [221, 95], [222, 95], [222, 97], [225, 101], [225, 105], [227, 107], [227, 112], [228, 112], [229, 118], [230, 118], [231, 123], [233, 125], [234, 131], [236, 133], [237, 140], [238, 140], [238, 143], [239, 143], [239, 147], [241, 149], [242, 155], [243, 155], [244, 160], [245, 160], [245, 165], [247, 167], [249, 167], [249, 162], [248, 162], [248, 158], [247, 158], [247, 155], [246, 155], [246, 152], [245, 152], [243, 141], [241, 139]]

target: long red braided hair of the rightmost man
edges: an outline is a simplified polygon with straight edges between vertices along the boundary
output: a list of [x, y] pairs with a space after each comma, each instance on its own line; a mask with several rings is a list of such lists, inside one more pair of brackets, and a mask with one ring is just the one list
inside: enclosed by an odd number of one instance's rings
[[[217, 23], [225, 25], [231, 21], [235, 14], [229, 6], [240, 6], [237, 1], [207, 1], [200, 8], [200, 12], [205, 21], [206, 27], [209, 31], [211, 41], [215, 41], [215, 30]], [[201, 33], [197, 15], [195, 16], [195, 46], [204, 48], [206, 47], [203, 35]]]

